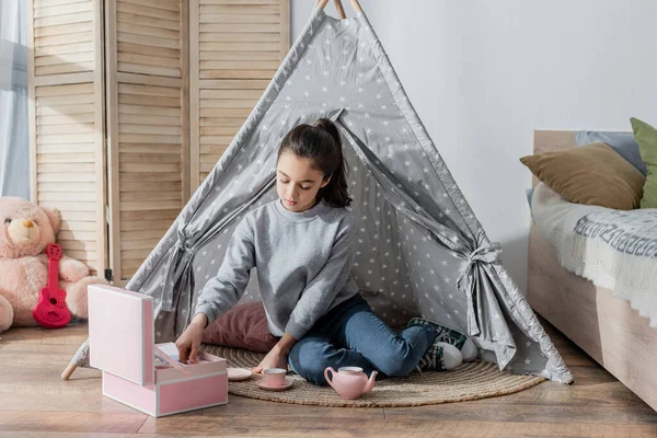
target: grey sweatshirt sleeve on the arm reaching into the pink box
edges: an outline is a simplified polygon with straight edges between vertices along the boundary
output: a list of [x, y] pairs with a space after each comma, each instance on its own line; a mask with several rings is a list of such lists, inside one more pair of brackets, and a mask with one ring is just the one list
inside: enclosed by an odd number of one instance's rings
[[242, 220], [231, 237], [217, 276], [205, 285], [195, 313], [205, 313], [208, 324], [240, 301], [255, 266], [255, 246], [246, 220]]

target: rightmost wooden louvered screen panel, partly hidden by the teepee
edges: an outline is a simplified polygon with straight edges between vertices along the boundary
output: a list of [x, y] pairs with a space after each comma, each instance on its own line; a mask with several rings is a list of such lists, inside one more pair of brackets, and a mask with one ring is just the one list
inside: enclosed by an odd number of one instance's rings
[[191, 1], [192, 187], [205, 180], [289, 49], [289, 0]]

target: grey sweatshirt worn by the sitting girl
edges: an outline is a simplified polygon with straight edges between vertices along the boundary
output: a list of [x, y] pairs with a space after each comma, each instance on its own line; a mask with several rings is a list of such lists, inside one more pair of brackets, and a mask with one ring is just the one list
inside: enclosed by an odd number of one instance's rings
[[350, 275], [355, 240], [345, 208], [322, 200], [291, 212], [280, 199], [268, 203], [235, 227], [219, 273], [198, 297], [196, 313], [212, 322], [230, 310], [257, 266], [269, 331], [300, 339], [328, 310], [358, 293]]

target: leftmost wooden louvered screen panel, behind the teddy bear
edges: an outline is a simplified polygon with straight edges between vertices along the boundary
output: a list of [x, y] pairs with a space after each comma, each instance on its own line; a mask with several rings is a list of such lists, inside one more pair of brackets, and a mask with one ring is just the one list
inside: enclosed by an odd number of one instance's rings
[[102, 8], [27, 2], [31, 198], [57, 207], [65, 254], [106, 268]]

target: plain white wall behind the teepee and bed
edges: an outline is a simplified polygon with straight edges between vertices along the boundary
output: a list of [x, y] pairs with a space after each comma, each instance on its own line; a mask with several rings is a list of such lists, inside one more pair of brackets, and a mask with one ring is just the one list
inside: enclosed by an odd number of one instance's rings
[[[311, 0], [292, 0], [292, 37]], [[347, 15], [354, 12], [343, 0]], [[657, 124], [657, 1], [360, 0], [404, 88], [525, 291], [534, 129]], [[336, 16], [333, 2], [326, 11]]]

